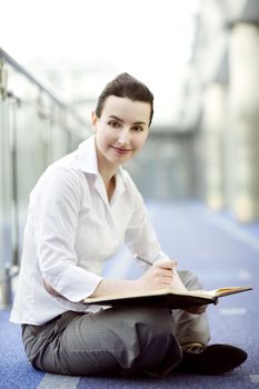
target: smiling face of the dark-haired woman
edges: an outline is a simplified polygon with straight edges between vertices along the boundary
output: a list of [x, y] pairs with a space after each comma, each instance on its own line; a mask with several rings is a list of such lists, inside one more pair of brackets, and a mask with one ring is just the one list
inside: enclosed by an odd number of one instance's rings
[[101, 117], [92, 113], [99, 162], [118, 167], [131, 159], [148, 138], [150, 112], [148, 102], [109, 96]]

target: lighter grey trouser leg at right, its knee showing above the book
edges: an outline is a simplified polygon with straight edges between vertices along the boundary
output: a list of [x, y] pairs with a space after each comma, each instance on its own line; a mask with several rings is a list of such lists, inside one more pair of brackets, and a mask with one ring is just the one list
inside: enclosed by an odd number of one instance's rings
[[[191, 271], [179, 271], [183, 285], [188, 290], [202, 289], [198, 278]], [[193, 315], [181, 309], [173, 309], [175, 333], [180, 345], [201, 342], [207, 345], [210, 339], [207, 313]]]

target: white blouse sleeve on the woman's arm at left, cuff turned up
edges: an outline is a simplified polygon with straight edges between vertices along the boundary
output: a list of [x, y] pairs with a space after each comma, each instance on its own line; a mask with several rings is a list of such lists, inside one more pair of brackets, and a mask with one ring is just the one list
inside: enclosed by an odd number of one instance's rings
[[32, 194], [34, 241], [42, 278], [72, 302], [90, 296], [102, 278], [78, 266], [74, 250], [81, 207], [77, 173], [59, 168]]

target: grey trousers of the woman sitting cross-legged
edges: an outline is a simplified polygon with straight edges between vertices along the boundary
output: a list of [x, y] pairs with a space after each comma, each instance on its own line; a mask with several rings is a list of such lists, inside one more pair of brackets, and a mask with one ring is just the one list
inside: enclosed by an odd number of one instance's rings
[[[189, 290], [200, 289], [179, 271]], [[181, 361], [181, 345], [207, 343], [207, 317], [165, 308], [68, 311], [42, 326], [22, 325], [28, 359], [37, 369], [70, 376], [165, 376]]]

